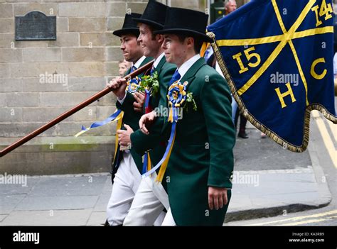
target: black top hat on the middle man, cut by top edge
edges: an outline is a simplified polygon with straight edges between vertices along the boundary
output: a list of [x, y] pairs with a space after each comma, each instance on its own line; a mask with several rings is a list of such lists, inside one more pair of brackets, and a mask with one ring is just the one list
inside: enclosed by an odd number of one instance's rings
[[144, 13], [140, 18], [133, 18], [137, 23], [145, 23], [155, 28], [163, 28], [168, 6], [155, 0], [149, 0]]

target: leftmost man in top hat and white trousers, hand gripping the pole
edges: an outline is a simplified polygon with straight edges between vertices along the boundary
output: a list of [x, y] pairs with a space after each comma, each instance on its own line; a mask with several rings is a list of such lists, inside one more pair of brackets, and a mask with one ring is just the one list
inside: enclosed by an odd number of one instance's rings
[[[113, 32], [121, 40], [120, 48], [125, 60], [132, 62], [132, 67], [126, 74], [138, 69], [151, 60], [151, 58], [143, 55], [143, 50], [137, 42], [139, 28], [132, 18], [140, 16], [138, 13], [125, 15], [122, 29]], [[138, 77], [142, 76], [143, 73], [138, 75]], [[112, 87], [113, 93], [117, 96], [117, 109], [124, 112], [122, 119], [124, 128], [136, 129], [139, 127], [139, 118], [143, 114], [144, 97], [142, 98], [141, 93], [137, 92], [137, 81], [135, 79], [132, 79], [128, 89], [127, 84], [124, 84], [124, 87], [115, 89], [113, 86], [119, 80], [122, 79], [113, 79], [109, 82], [108, 87]], [[117, 133], [121, 131], [119, 130]], [[138, 155], [133, 149], [122, 150], [119, 145], [116, 146], [117, 153], [112, 163], [112, 181], [114, 182], [114, 186], [109, 204], [107, 205], [106, 225], [109, 224], [109, 226], [122, 225], [134, 199], [134, 194], [137, 192], [139, 183], [141, 182], [141, 155]]]

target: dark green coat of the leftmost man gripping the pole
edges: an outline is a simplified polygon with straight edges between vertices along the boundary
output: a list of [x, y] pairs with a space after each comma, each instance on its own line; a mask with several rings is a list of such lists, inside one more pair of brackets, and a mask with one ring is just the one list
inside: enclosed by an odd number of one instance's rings
[[[152, 57], [146, 57], [145, 60], [141, 62], [140, 67], [144, 66], [146, 63], [150, 62], [151, 60], [153, 60]], [[125, 75], [129, 73], [130, 73], [130, 69], [126, 72]], [[144, 72], [139, 74], [138, 76], [142, 77], [143, 75], [144, 75]], [[129, 125], [134, 131], [136, 131], [139, 128], [139, 119], [141, 118], [143, 113], [134, 111], [134, 101], [136, 101], [134, 99], [134, 96], [129, 92], [127, 92], [127, 96], [125, 97], [123, 104], [120, 104], [118, 100], [116, 101], [117, 109], [124, 111], [124, 116], [122, 120], [122, 130], [125, 129], [124, 124]], [[112, 179], [114, 177], [114, 174], [117, 172], [118, 167], [119, 167], [119, 162], [122, 159], [122, 151], [119, 150], [119, 145], [116, 145], [116, 146], [118, 146], [118, 148], [117, 148], [117, 155], [112, 162]], [[130, 153], [134, 159], [134, 162], [137, 165], [139, 172], [141, 172], [143, 168], [141, 155], [136, 153], [136, 151], [132, 148], [130, 150]]]

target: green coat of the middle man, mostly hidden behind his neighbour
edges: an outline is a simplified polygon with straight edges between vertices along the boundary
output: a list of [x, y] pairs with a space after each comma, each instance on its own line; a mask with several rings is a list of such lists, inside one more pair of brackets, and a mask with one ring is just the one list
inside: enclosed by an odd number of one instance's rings
[[[169, 85], [169, 82], [172, 78], [173, 73], [176, 71], [176, 65], [173, 65], [169, 62], [166, 62], [165, 57], [162, 57], [159, 64], [156, 67], [156, 71], [158, 72], [158, 80], [159, 80], [159, 92], [151, 96], [150, 104], [152, 109], [156, 109], [159, 107], [160, 99], [166, 98], [166, 89]], [[157, 129], [161, 131], [162, 125], [160, 124]], [[155, 127], [153, 127], [155, 128]], [[139, 125], [137, 131], [134, 130], [134, 133], [131, 134], [132, 148], [134, 151], [137, 151], [137, 148], [142, 147], [143, 143], [149, 143], [149, 136], [145, 135], [139, 130]], [[151, 138], [152, 146], [149, 147], [151, 150], [150, 158], [152, 165], [156, 165], [165, 153], [166, 148], [166, 140], [156, 136], [155, 138]], [[138, 150], [139, 151], [139, 150]], [[139, 155], [144, 155], [144, 151], [139, 153]], [[166, 184], [163, 182], [163, 187], [166, 189]]]

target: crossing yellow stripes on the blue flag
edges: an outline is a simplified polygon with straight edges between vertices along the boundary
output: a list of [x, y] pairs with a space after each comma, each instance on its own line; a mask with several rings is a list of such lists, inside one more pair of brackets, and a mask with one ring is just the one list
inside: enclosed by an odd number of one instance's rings
[[240, 46], [240, 45], [260, 45], [265, 43], [275, 43], [280, 42], [277, 45], [277, 48], [274, 49], [271, 55], [267, 58], [267, 60], [263, 63], [257, 72], [237, 91], [237, 93], [241, 96], [244, 94], [247, 89], [249, 89], [256, 81], [261, 77], [261, 75], [268, 69], [268, 67], [274, 62], [277, 56], [282, 52], [283, 48], [289, 44], [291, 48], [291, 52], [294, 55], [294, 59], [296, 61], [296, 65], [299, 69], [299, 74], [301, 76], [301, 80], [304, 84], [304, 88], [306, 89], [306, 106], [309, 105], [308, 101], [308, 87], [306, 84], [306, 77], [304, 76], [304, 72], [301, 68], [301, 63], [299, 62], [299, 57], [297, 56], [296, 49], [294, 47], [294, 43], [292, 43], [292, 39], [304, 38], [306, 36], [311, 35], [319, 35], [324, 33], [333, 33], [333, 26], [326, 26], [323, 28], [312, 28], [306, 31], [296, 32], [297, 28], [303, 23], [304, 18], [308, 15], [311, 8], [316, 3], [316, 0], [309, 0], [308, 4], [304, 7], [303, 11], [299, 15], [299, 18], [295, 21], [293, 26], [287, 31], [282, 21], [281, 14], [279, 13], [279, 7], [277, 6], [276, 0], [272, 0], [272, 5], [274, 7], [274, 11], [277, 16], [277, 21], [279, 21], [279, 26], [282, 29], [283, 35], [274, 35], [268, 36], [264, 38], [254, 38], [254, 39], [236, 39], [236, 40], [217, 40], [216, 43], [219, 47], [221, 46]]

